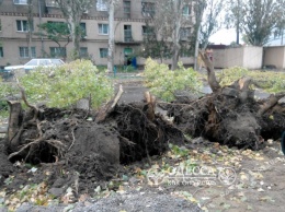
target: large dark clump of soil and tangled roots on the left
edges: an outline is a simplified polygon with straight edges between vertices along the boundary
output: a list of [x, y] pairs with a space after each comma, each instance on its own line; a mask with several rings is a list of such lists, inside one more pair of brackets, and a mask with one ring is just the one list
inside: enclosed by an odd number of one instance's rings
[[11, 162], [38, 166], [33, 176], [26, 174], [26, 180], [47, 181], [59, 193], [68, 187], [76, 187], [76, 193], [92, 193], [100, 181], [118, 177], [121, 164], [150, 160], [166, 152], [169, 142], [185, 141], [162, 116], [149, 120], [144, 108], [145, 103], [116, 105], [100, 123], [96, 114], [87, 110], [41, 108], [37, 120], [27, 111], [5, 150]]

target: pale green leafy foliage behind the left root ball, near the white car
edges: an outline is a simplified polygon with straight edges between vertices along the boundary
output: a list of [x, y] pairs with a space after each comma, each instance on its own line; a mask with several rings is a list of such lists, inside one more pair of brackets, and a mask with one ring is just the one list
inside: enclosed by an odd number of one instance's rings
[[111, 81], [90, 61], [73, 61], [56, 68], [37, 68], [20, 79], [29, 102], [49, 107], [68, 107], [91, 94], [92, 107], [99, 107], [113, 94]]

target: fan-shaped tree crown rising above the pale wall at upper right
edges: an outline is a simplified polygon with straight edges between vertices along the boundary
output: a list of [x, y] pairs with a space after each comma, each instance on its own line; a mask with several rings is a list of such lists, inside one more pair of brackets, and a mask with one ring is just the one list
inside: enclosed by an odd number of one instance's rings
[[282, 28], [284, 4], [285, 0], [229, 0], [227, 22], [242, 31], [249, 44], [263, 46], [276, 28]]

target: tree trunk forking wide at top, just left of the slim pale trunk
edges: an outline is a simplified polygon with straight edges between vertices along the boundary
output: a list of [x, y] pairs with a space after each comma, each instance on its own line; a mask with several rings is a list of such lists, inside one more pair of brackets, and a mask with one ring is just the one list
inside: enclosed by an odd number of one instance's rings
[[76, 59], [80, 55], [80, 40], [83, 34], [80, 27], [82, 14], [92, 8], [95, 2], [94, 0], [56, 0], [56, 2], [67, 21], [73, 45], [72, 59]]

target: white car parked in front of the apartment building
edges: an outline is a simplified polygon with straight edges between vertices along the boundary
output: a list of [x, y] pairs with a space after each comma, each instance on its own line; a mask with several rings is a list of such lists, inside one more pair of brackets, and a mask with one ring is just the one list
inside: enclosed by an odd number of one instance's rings
[[64, 63], [65, 62], [62, 60], [56, 58], [35, 58], [30, 60], [25, 64], [4, 67], [4, 70], [12, 71], [12, 70], [24, 69], [25, 71], [30, 71], [36, 67], [54, 67]]

